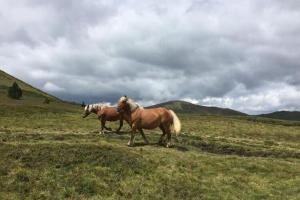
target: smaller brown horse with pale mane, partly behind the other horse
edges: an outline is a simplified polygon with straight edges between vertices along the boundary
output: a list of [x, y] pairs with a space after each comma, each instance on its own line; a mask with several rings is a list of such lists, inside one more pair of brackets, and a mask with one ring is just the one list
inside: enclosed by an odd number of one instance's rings
[[98, 116], [99, 121], [101, 122], [101, 128], [99, 132], [100, 134], [104, 133], [104, 129], [112, 131], [111, 128], [105, 126], [106, 121], [120, 121], [119, 128], [116, 130], [117, 133], [119, 133], [123, 126], [123, 117], [115, 107], [110, 107], [109, 105], [102, 103], [90, 104], [85, 106], [82, 117], [86, 118], [91, 113], [96, 114]]

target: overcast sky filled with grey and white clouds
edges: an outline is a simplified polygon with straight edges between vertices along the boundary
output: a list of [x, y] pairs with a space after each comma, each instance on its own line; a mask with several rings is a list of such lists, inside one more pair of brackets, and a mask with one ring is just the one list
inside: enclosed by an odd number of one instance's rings
[[0, 69], [67, 100], [300, 110], [298, 0], [0, 0]]

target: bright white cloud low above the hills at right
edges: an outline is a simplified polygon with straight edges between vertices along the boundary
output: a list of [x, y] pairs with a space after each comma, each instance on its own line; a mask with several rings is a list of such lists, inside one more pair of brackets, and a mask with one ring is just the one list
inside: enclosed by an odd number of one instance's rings
[[231, 93], [231, 96], [206, 97], [200, 102], [207, 106], [227, 107], [250, 114], [299, 109], [299, 88], [287, 84], [271, 84], [268, 87], [239, 96]]

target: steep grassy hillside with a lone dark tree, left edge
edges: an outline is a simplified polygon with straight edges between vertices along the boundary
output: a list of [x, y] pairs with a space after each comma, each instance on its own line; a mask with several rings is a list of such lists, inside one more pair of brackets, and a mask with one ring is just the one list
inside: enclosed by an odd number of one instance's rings
[[[23, 91], [23, 96], [20, 100], [14, 100], [7, 96], [8, 88], [17, 82]], [[45, 98], [50, 100], [50, 104], [44, 104]], [[77, 110], [78, 105], [62, 101], [46, 92], [43, 92], [24, 81], [13, 77], [6, 72], [0, 70], [0, 110], [7, 106], [12, 106], [13, 109], [26, 109], [37, 107], [44, 110]], [[20, 108], [22, 107], [22, 108]]]

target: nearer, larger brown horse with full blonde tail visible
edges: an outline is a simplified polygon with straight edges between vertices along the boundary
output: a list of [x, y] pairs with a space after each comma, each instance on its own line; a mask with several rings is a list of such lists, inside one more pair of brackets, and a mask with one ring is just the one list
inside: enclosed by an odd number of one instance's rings
[[[138, 130], [145, 143], [148, 144], [148, 140], [144, 134], [143, 129], [155, 129], [159, 127], [163, 134], [159, 139], [159, 144], [165, 143], [166, 147], [171, 146], [171, 133], [179, 134], [181, 130], [181, 123], [177, 115], [166, 108], [151, 108], [145, 109], [135, 103], [132, 99], [127, 96], [120, 98], [118, 102], [118, 112], [122, 114], [126, 119], [131, 128], [131, 137], [128, 142], [128, 146], [134, 144], [134, 138], [136, 130]], [[167, 142], [164, 137], [167, 135]]]

